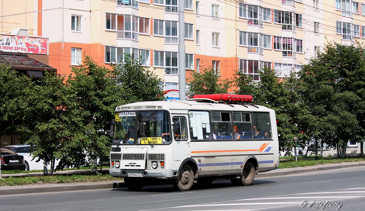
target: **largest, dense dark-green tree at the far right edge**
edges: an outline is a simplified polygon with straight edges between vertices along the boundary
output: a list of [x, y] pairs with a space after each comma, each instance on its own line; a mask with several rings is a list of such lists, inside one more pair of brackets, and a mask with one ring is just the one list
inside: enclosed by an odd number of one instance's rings
[[315, 150], [327, 144], [345, 157], [349, 140], [364, 140], [364, 56], [358, 42], [351, 46], [330, 42], [298, 73], [303, 82], [300, 94], [316, 121], [308, 129]]

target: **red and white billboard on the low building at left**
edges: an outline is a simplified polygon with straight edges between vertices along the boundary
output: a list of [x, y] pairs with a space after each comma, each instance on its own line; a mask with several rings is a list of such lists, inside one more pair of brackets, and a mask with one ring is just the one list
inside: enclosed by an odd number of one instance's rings
[[48, 54], [47, 38], [0, 35], [0, 52]]

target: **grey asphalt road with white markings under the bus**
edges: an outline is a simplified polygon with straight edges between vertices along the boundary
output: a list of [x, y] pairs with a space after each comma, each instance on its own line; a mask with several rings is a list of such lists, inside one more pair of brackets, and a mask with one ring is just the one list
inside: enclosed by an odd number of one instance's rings
[[172, 185], [19, 194], [0, 197], [0, 210], [364, 210], [365, 167], [259, 177], [235, 187], [214, 181], [210, 188], [177, 192]]

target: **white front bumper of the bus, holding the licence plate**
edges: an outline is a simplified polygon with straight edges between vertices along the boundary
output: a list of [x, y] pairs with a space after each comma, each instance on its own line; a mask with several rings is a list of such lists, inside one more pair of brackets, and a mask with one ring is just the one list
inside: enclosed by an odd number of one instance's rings
[[149, 177], [149, 178], [173, 178], [173, 170], [138, 170], [138, 169], [109, 169], [112, 177]]

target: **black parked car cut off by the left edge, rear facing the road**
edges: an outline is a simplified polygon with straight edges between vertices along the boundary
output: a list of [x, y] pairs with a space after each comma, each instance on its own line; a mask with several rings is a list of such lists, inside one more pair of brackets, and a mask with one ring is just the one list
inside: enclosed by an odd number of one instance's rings
[[1, 170], [25, 169], [24, 157], [9, 149], [0, 148]]

